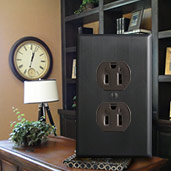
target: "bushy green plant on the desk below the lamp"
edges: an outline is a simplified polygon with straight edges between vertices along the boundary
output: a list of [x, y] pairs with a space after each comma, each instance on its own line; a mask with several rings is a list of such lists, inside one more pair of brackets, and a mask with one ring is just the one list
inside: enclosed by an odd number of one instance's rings
[[28, 121], [24, 118], [24, 113], [20, 113], [17, 108], [12, 108], [17, 115], [17, 121], [10, 124], [14, 127], [9, 140], [17, 146], [35, 146], [47, 139], [47, 136], [56, 131], [54, 126], [44, 122], [44, 118], [39, 121]]

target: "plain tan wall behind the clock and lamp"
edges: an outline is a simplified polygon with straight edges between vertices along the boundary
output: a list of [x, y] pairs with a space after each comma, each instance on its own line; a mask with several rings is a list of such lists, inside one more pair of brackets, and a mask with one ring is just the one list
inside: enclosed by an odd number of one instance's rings
[[53, 70], [49, 78], [56, 78], [59, 102], [50, 104], [55, 124], [57, 109], [62, 108], [61, 26], [60, 0], [0, 0], [0, 139], [8, 139], [10, 121], [16, 120], [12, 106], [29, 120], [37, 120], [38, 105], [23, 104], [23, 82], [9, 67], [9, 52], [18, 39], [35, 36], [43, 40], [53, 55]]

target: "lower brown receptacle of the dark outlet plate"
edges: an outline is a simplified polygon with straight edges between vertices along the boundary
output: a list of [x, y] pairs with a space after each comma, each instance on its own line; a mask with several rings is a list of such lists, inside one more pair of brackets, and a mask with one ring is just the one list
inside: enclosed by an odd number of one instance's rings
[[103, 131], [125, 131], [131, 123], [131, 111], [125, 103], [102, 103], [96, 122]]

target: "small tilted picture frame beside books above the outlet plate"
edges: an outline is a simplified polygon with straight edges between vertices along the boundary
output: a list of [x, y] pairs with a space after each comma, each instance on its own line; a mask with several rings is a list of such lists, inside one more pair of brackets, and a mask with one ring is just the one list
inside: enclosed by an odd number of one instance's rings
[[142, 16], [143, 16], [143, 10], [135, 11], [132, 13], [128, 31], [140, 29]]

